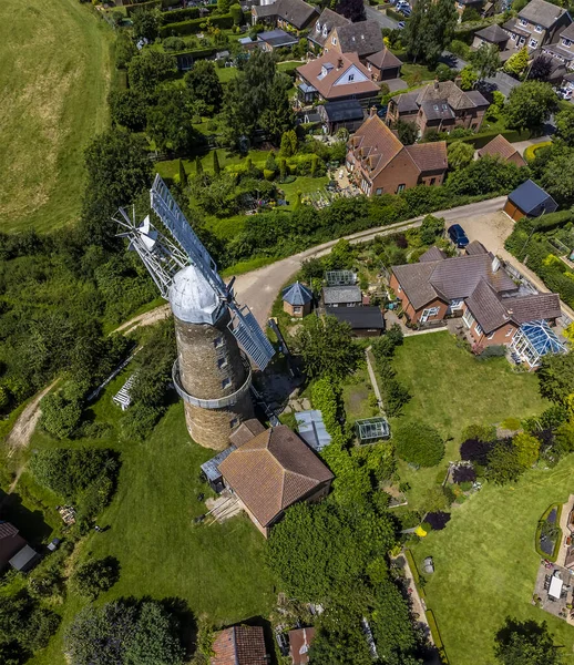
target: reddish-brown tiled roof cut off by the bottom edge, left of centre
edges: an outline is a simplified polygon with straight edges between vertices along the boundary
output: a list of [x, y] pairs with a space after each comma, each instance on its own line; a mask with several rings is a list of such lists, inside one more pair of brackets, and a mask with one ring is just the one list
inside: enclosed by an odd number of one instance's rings
[[216, 634], [211, 665], [267, 665], [260, 626], [232, 626]]

